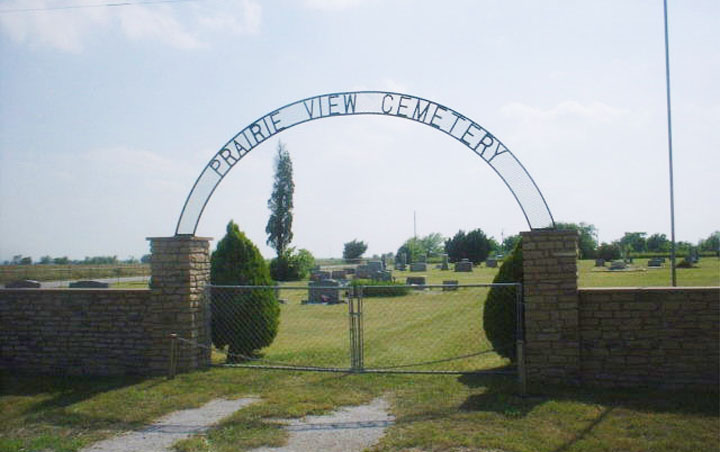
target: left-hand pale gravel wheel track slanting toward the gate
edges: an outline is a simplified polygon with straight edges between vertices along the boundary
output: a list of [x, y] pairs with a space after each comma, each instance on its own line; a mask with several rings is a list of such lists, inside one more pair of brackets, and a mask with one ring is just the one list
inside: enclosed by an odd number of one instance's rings
[[222, 418], [258, 400], [216, 399], [200, 408], [176, 411], [143, 430], [100, 441], [80, 452], [166, 452], [171, 450], [174, 442], [202, 433]]

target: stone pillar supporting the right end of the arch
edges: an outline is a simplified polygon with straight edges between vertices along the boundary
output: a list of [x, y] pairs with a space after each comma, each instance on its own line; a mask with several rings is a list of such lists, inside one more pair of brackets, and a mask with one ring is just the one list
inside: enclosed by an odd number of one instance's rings
[[521, 235], [528, 381], [579, 383], [578, 233]]

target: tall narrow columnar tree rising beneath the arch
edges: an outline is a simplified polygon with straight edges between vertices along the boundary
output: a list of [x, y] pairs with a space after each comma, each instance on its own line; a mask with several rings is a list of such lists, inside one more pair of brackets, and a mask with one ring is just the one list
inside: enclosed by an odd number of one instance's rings
[[275, 156], [275, 182], [273, 191], [268, 199], [270, 219], [265, 227], [268, 234], [267, 244], [272, 246], [278, 257], [285, 253], [293, 239], [292, 209], [295, 183], [292, 179], [292, 161], [285, 145], [278, 142]]

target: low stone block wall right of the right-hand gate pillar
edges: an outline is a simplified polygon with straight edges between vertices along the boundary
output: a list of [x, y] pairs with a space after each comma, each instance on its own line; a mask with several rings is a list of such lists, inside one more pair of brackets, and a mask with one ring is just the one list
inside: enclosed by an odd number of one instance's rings
[[720, 288], [580, 289], [584, 383], [720, 385]]

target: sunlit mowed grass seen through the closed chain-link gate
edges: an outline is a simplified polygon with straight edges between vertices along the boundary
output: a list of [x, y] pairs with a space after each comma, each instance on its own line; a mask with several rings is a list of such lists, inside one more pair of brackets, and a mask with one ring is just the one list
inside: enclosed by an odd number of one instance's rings
[[[410, 291], [402, 297], [365, 298], [365, 366], [410, 366], [417, 370], [471, 371], [507, 364], [495, 353], [482, 328], [487, 288]], [[342, 291], [344, 292], [344, 291]], [[514, 288], [507, 302], [515, 303]], [[274, 364], [350, 367], [348, 304], [301, 304], [307, 289], [284, 289], [280, 328], [263, 359]], [[425, 364], [485, 352], [472, 358]]]

